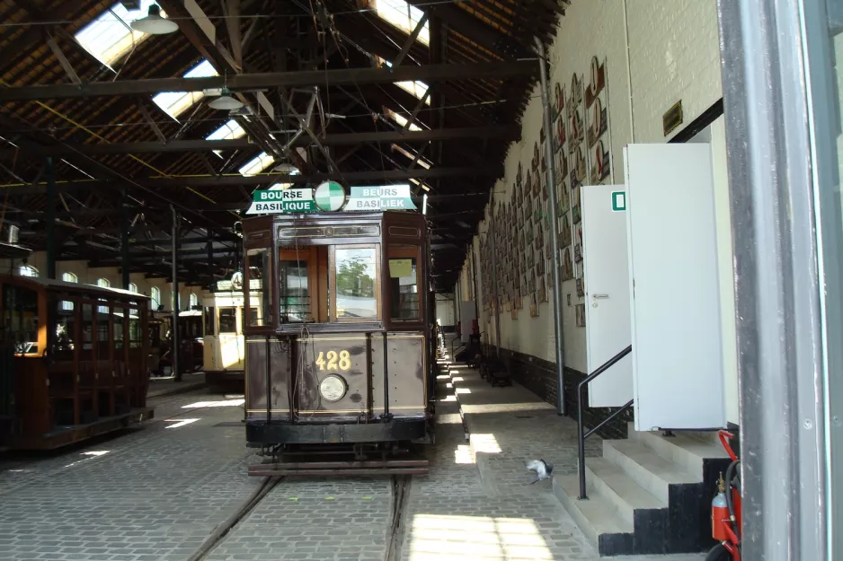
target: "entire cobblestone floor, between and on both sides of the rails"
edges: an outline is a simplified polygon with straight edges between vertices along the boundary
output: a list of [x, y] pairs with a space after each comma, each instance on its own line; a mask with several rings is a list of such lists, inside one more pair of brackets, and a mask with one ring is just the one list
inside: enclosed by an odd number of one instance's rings
[[[411, 484], [401, 559], [599, 559], [523, 467], [544, 457], [575, 469], [572, 425], [528, 390], [492, 389], [457, 370], [454, 384], [439, 381], [437, 442], [430, 474]], [[142, 428], [0, 460], [0, 560], [186, 561], [261, 483], [246, 475], [254, 457], [238, 398], [198, 390], [151, 399], [155, 420]], [[389, 478], [283, 480], [207, 559], [380, 561], [392, 492]]]

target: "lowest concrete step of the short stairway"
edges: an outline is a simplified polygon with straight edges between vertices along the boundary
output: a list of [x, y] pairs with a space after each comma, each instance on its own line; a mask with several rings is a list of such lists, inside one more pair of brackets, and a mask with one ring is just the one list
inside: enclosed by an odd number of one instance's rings
[[613, 554], [613, 542], [632, 542], [633, 525], [617, 515], [611, 501], [597, 494], [584, 501], [577, 498], [580, 494], [577, 476], [555, 477], [553, 486], [556, 498], [600, 555]]

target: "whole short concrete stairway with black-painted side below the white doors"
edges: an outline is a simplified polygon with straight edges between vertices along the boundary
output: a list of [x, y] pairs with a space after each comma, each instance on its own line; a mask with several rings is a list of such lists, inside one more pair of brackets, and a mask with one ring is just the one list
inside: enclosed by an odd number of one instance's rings
[[554, 478], [554, 494], [601, 556], [692, 553], [714, 545], [711, 500], [729, 458], [716, 433], [636, 432], [604, 440], [587, 458], [588, 500], [577, 475]]

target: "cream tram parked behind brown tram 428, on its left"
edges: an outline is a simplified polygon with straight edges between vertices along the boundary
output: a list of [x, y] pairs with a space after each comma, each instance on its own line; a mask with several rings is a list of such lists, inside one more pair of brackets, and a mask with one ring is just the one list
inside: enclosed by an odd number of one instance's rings
[[202, 300], [205, 314], [205, 381], [212, 386], [237, 386], [245, 378], [244, 327], [262, 325], [262, 271], [251, 275], [249, 304], [246, 304], [241, 273], [217, 281]]

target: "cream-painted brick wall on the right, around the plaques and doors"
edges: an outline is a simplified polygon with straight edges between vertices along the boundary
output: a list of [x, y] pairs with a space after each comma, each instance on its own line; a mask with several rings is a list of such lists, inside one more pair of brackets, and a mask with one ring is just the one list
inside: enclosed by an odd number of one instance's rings
[[[606, 59], [614, 183], [624, 181], [625, 145], [666, 142], [723, 96], [715, 0], [574, 0], [566, 9], [548, 56], [551, 88], [555, 82], [570, 87], [573, 73], [588, 79], [591, 57]], [[662, 134], [662, 115], [679, 100], [684, 110], [683, 125], [666, 138]], [[540, 92], [536, 87], [521, 119], [522, 140], [510, 145], [504, 177], [495, 185], [493, 201], [510, 200], [518, 163], [528, 165], [532, 158], [542, 119]], [[723, 299], [726, 402], [729, 420], [737, 422], [732, 235], [722, 118], [714, 123], [710, 134]], [[488, 216], [487, 206], [485, 220], [479, 227], [480, 236], [489, 229]], [[478, 268], [490, 267], [490, 263], [479, 259], [477, 237], [472, 248]], [[471, 282], [467, 261], [461, 278], [464, 286]], [[482, 290], [479, 283], [478, 288]], [[466, 299], [466, 289], [462, 292]], [[571, 306], [566, 304], [568, 294], [572, 295]], [[563, 283], [562, 300], [565, 366], [584, 373], [585, 329], [576, 327], [574, 311], [574, 305], [583, 299], [576, 295], [575, 281]], [[539, 304], [537, 318], [529, 317], [527, 304], [519, 311], [518, 320], [512, 320], [505, 309], [501, 311], [501, 346], [554, 362], [552, 297], [548, 301]], [[489, 311], [481, 310], [481, 329], [486, 331], [484, 340], [492, 343], [495, 342], [493, 320]]]

